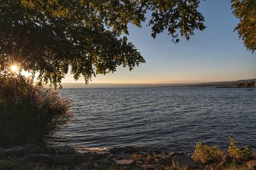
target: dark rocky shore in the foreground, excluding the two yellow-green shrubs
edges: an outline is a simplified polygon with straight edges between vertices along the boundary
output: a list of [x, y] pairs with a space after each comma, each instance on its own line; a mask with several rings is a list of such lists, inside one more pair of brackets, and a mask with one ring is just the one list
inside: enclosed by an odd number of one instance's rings
[[[221, 164], [201, 166], [185, 153], [161, 153], [149, 148], [121, 147], [108, 152], [86, 152], [70, 146], [40, 147], [35, 145], [0, 147], [0, 169], [226, 169], [227, 157]], [[256, 169], [256, 153], [245, 169]]]

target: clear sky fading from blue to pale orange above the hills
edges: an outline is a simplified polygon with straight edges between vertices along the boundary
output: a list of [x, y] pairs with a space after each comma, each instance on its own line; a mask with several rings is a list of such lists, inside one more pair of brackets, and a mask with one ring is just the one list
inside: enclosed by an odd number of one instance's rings
[[[115, 73], [98, 74], [90, 83], [198, 83], [256, 78], [256, 53], [243, 45], [234, 32], [238, 20], [232, 15], [230, 0], [201, 1], [199, 11], [205, 17], [204, 31], [177, 44], [166, 32], [154, 39], [151, 29], [129, 25], [132, 41], [146, 60], [132, 71], [118, 67]], [[63, 83], [75, 81], [67, 74]]]

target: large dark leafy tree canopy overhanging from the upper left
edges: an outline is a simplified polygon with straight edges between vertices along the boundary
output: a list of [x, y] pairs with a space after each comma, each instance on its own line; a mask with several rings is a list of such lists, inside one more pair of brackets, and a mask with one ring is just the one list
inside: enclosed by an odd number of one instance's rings
[[148, 25], [152, 37], [168, 31], [172, 40], [204, 30], [199, 0], [1, 0], [0, 64], [15, 62], [39, 80], [56, 85], [68, 73], [86, 83], [95, 74], [133, 69], [145, 62], [128, 41], [128, 24]]

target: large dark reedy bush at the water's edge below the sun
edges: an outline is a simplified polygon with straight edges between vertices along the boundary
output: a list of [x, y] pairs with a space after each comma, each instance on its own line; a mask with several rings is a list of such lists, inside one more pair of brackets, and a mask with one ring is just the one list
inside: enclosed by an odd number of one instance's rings
[[42, 144], [72, 118], [70, 104], [56, 90], [24, 76], [0, 74], [0, 146]]

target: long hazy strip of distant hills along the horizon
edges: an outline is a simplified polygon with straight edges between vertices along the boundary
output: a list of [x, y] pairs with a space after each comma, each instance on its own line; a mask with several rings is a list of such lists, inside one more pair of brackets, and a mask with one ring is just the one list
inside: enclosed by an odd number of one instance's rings
[[205, 83], [159, 83], [159, 84], [122, 84], [122, 83], [62, 83], [61, 85], [65, 89], [83, 89], [83, 88], [129, 88], [129, 87], [204, 87], [204, 86], [216, 86], [216, 87], [223, 87], [224, 85], [231, 86], [231, 85], [239, 85], [244, 84], [246, 82], [253, 83], [256, 81], [256, 78], [249, 79], [249, 80], [237, 80], [237, 81], [216, 81], [216, 82], [205, 82]]

